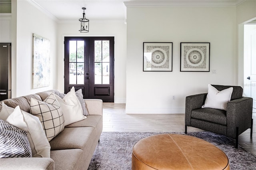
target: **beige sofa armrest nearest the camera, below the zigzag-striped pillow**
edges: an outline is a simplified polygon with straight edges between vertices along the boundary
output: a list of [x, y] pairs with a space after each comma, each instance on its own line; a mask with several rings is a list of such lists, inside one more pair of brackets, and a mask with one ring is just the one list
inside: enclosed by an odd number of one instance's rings
[[51, 158], [1, 158], [1, 170], [54, 170]]

